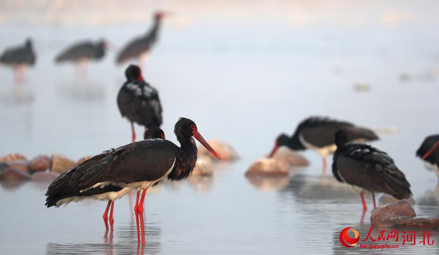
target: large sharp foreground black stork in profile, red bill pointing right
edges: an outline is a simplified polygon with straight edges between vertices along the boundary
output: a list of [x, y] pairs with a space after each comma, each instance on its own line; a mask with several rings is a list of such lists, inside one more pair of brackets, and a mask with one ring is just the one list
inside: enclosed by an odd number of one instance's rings
[[[220, 156], [198, 132], [197, 125], [190, 119], [180, 118], [175, 124], [174, 133], [180, 147], [164, 139], [150, 139], [127, 144], [93, 157], [79, 165], [76, 170], [65, 173], [63, 182], [55, 181], [46, 193], [47, 203], [53, 203], [57, 191], [67, 187], [84, 193], [95, 188], [118, 186], [136, 189], [134, 212], [140, 218], [142, 244], [145, 243], [143, 231], [143, 200], [149, 187], [167, 177], [171, 181], [186, 179], [197, 161], [196, 138], [216, 158]], [[89, 162], [89, 163], [87, 163]], [[139, 200], [140, 191], [142, 191]], [[137, 241], [140, 241], [137, 224]]]

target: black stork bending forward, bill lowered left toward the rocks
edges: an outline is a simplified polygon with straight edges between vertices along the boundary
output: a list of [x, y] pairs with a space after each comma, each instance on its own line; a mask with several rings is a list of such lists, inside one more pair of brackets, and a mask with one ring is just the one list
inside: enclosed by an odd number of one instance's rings
[[270, 157], [280, 146], [287, 146], [293, 150], [312, 149], [322, 157], [323, 170], [325, 171], [326, 156], [333, 154], [336, 149], [334, 135], [338, 130], [345, 131], [349, 141], [365, 142], [378, 139], [372, 130], [346, 121], [337, 121], [327, 117], [310, 117], [299, 124], [292, 137], [285, 134], [279, 135]]

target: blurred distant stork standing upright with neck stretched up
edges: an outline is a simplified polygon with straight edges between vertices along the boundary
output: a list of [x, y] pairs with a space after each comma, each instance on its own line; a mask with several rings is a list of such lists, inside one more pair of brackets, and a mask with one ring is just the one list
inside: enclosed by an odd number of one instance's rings
[[117, 64], [124, 63], [132, 58], [137, 59], [139, 66], [142, 66], [143, 59], [155, 45], [158, 39], [161, 19], [168, 16], [166, 12], [158, 11], [154, 14], [153, 27], [140, 37], [130, 41], [117, 56]]

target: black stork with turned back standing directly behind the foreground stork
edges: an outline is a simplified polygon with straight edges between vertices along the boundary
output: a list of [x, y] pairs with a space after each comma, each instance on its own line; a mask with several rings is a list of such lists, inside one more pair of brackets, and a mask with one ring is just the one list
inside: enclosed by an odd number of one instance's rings
[[159, 127], [162, 120], [162, 106], [158, 92], [143, 80], [140, 68], [130, 65], [125, 70], [127, 81], [117, 94], [120, 114], [131, 121], [132, 141], [136, 140], [134, 122], [149, 129]]

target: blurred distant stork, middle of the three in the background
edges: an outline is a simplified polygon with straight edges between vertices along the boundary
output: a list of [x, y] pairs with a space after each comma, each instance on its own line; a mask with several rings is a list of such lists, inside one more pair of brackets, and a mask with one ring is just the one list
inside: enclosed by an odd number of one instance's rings
[[64, 49], [55, 59], [56, 63], [73, 62], [81, 65], [85, 75], [85, 65], [90, 60], [100, 60], [105, 56], [108, 43], [105, 40], [96, 42], [83, 41]]

